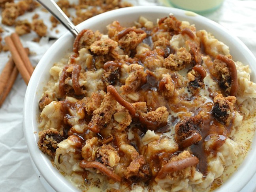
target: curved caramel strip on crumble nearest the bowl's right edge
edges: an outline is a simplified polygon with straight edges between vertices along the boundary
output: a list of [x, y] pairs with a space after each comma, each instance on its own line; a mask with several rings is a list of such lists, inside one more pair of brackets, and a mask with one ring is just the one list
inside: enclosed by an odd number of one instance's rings
[[237, 70], [235, 67], [235, 62], [233, 62], [232, 59], [224, 56], [224, 55], [217, 55], [216, 59], [221, 60], [222, 62], [226, 63], [228, 66], [228, 69], [230, 71], [231, 76], [231, 89], [230, 89], [230, 95], [235, 96], [237, 94], [237, 88], [238, 88], [238, 81], [237, 81]]

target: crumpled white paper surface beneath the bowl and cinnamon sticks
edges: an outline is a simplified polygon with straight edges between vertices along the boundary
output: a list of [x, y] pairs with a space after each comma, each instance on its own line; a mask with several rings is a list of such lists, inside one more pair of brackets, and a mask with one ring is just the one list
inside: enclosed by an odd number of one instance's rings
[[[147, 4], [146, 1], [143, 1], [143, 3]], [[256, 56], [255, 10], [256, 1], [226, 0], [222, 8], [215, 13], [207, 15], [207, 17], [228, 28]], [[42, 12], [41, 14], [41, 17], [49, 18], [49, 15], [46, 13]], [[25, 38], [31, 39], [31, 36]], [[50, 43], [43, 42], [41, 42], [41, 45], [38, 45], [37, 43], [31, 43], [31, 41], [23, 41], [23, 43], [39, 54], [31, 58], [34, 65], [50, 45]], [[1, 53], [0, 60], [0, 70], [2, 70], [8, 58]], [[26, 85], [19, 75], [6, 102], [0, 108], [0, 191], [3, 192], [45, 192], [32, 168], [22, 130], [22, 110], [25, 91]], [[256, 175], [243, 189], [243, 192], [252, 192], [255, 186]]]

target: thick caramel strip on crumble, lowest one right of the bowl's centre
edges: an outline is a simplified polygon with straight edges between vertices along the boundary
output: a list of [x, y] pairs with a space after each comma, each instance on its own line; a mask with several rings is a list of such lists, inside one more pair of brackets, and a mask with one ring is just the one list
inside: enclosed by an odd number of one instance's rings
[[163, 179], [164, 177], [166, 177], [166, 175], [168, 175], [168, 173], [180, 171], [180, 170], [188, 168], [190, 166], [194, 166], [198, 163], [199, 163], [199, 160], [196, 156], [169, 162], [169, 163], [165, 164], [164, 166], [162, 166], [162, 168], [158, 172], [157, 178]]

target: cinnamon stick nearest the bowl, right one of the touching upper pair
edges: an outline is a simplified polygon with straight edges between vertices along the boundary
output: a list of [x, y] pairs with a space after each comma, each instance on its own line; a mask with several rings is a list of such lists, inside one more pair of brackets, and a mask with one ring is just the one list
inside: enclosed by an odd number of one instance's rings
[[31, 65], [28, 55], [26, 54], [26, 51], [25, 51], [17, 33], [11, 34], [11, 40], [13, 40], [13, 43], [14, 43], [15, 47], [17, 48], [17, 51], [19, 52], [19, 55], [21, 56], [21, 59], [23, 60], [24, 65], [25, 65], [26, 69], [28, 70], [28, 73], [31, 76], [34, 71], [34, 68]]

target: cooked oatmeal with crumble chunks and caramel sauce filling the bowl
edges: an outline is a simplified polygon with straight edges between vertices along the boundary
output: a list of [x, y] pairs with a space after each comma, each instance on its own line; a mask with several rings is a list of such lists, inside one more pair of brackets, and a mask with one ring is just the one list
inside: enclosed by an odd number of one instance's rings
[[249, 66], [175, 14], [106, 29], [81, 30], [51, 67], [39, 149], [81, 191], [219, 188], [254, 137]]

